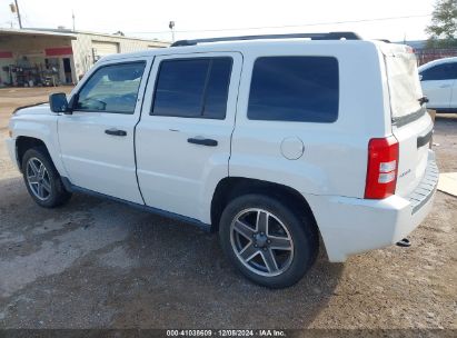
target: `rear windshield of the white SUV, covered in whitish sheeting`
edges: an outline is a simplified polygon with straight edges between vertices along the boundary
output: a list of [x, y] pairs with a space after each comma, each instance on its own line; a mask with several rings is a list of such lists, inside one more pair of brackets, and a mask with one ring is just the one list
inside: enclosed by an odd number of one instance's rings
[[419, 99], [423, 97], [423, 90], [415, 54], [395, 52], [387, 54], [385, 60], [393, 120], [420, 111]]

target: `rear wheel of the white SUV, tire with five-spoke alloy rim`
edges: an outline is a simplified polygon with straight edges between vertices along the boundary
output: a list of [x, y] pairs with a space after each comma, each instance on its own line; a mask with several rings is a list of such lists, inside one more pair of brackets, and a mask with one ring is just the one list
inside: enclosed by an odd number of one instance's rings
[[316, 227], [305, 212], [264, 195], [230, 201], [220, 219], [219, 239], [245, 277], [275, 289], [298, 282], [316, 261], [319, 248]]

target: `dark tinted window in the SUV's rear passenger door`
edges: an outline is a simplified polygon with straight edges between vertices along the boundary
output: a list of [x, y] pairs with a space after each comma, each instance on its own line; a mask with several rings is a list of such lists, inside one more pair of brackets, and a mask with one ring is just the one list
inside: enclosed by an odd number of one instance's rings
[[151, 115], [225, 119], [231, 64], [231, 58], [162, 61]]

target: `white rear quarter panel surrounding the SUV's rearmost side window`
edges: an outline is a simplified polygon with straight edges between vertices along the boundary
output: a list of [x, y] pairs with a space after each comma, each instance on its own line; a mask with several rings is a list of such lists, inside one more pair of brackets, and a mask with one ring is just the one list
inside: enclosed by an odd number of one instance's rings
[[[339, 115], [332, 123], [258, 121], [247, 118], [252, 66], [265, 56], [335, 57], [339, 66]], [[312, 41], [245, 53], [229, 175], [292, 187], [301, 193], [362, 197], [368, 140], [390, 133], [386, 81], [375, 43]], [[302, 141], [304, 155], [281, 155], [286, 138]]]

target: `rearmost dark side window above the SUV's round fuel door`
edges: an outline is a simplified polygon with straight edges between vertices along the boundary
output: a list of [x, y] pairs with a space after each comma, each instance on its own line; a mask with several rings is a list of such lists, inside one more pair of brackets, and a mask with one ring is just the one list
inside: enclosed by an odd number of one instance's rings
[[338, 118], [338, 61], [331, 57], [265, 57], [256, 60], [250, 120], [334, 122]]

